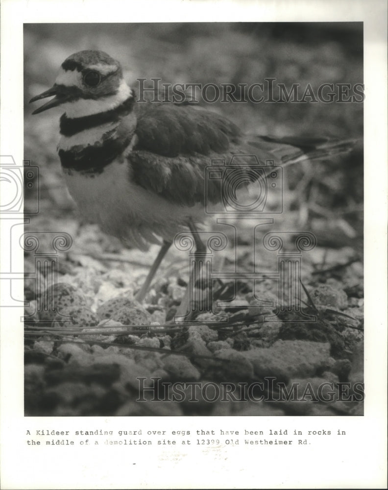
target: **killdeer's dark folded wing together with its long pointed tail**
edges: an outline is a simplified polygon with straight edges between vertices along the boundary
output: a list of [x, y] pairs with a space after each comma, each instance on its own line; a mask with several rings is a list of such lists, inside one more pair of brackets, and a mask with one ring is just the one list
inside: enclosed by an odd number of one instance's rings
[[203, 203], [205, 194], [212, 202], [219, 200], [222, 179], [209, 179], [207, 172], [221, 175], [233, 156], [239, 180], [247, 185], [263, 175], [252, 172], [252, 165], [267, 166], [268, 161], [288, 165], [349, 149], [347, 142], [341, 146], [325, 138], [242, 139], [227, 119], [191, 105], [170, 103], [147, 104], [138, 115], [136, 135], [138, 143], [128, 156], [132, 180], [170, 202], [188, 206]]

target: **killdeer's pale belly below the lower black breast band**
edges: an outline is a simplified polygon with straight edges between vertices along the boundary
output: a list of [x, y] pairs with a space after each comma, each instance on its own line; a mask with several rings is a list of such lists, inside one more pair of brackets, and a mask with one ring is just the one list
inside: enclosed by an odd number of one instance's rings
[[130, 182], [124, 162], [113, 162], [100, 174], [65, 173], [65, 179], [86, 221], [139, 248], [155, 243], [154, 235], [172, 240], [189, 216], [204, 216], [199, 205], [173, 204]]

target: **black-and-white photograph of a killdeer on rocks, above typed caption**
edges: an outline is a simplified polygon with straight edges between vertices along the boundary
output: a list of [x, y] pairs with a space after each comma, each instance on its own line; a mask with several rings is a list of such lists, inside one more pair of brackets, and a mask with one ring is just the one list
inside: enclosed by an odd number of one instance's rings
[[362, 23], [26, 24], [24, 68], [25, 415], [362, 416]]

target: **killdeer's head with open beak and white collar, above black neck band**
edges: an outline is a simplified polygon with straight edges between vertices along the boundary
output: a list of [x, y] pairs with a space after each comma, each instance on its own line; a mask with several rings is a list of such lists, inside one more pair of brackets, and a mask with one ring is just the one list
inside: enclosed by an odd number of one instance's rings
[[54, 98], [32, 114], [63, 106], [69, 118], [89, 116], [114, 109], [132, 97], [132, 91], [123, 79], [118, 61], [103, 51], [86, 50], [69, 56], [62, 63], [54, 85], [30, 102], [51, 96]]

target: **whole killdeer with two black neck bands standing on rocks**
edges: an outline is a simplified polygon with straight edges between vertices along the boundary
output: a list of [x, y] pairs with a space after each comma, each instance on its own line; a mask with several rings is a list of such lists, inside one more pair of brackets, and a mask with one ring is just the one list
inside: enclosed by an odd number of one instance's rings
[[[58, 153], [85, 220], [141, 249], [163, 241], [139, 301], [176, 233], [185, 227], [194, 232], [203, 220], [205, 169], [212, 160], [254, 154], [263, 166], [268, 160], [288, 165], [349, 149], [325, 138], [248, 138], [227, 119], [190, 104], [138, 102], [120, 63], [102, 51], [69, 56], [52, 88], [30, 102], [51, 96], [33, 114], [56, 106], [64, 111]], [[257, 178], [246, 167], [241, 172], [245, 184]], [[210, 200], [220, 199], [220, 185], [219, 179], [208, 183]]]

